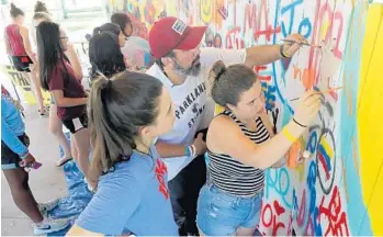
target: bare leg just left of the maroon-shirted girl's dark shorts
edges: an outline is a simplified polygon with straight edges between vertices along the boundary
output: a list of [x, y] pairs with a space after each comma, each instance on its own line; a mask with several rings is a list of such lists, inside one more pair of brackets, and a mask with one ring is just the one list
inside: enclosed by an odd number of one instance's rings
[[49, 132], [55, 135], [58, 144], [61, 146], [64, 150], [63, 159], [67, 160], [72, 158], [70, 146], [67, 137], [63, 132], [63, 122], [57, 116], [57, 105], [50, 104], [49, 109]]

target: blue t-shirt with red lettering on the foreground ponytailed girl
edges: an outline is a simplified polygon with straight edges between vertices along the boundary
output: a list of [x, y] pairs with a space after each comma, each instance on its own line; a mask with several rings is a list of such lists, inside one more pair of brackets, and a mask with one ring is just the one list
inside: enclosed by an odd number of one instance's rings
[[76, 222], [79, 227], [105, 235], [178, 235], [167, 168], [154, 147], [150, 151], [153, 157], [134, 151], [100, 177], [97, 193]]

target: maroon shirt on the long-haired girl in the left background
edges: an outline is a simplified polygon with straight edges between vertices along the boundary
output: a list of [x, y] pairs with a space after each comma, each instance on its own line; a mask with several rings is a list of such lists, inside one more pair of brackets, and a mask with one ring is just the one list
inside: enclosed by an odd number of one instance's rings
[[[64, 65], [59, 60], [53, 68], [48, 86], [49, 91], [63, 90], [65, 98], [87, 97], [87, 93], [81, 86], [81, 81], [76, 79], [75, 71], [67, 60], [64, 60]], [[57, 115], [61, 120], [72, 120], [79, 117], [83, 113], [87, 113], [87, 105], [70, 108], [57, 106]]]

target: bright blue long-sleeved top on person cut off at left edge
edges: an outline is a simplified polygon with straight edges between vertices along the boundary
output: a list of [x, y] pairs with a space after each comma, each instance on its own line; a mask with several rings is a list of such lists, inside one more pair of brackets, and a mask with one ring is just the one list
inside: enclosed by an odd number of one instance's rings
[[24, 122], [13, 99], [1, 93], [1, 142], [21, 158], [27, 154], [27, 147], [19, 139], [25, 133]]

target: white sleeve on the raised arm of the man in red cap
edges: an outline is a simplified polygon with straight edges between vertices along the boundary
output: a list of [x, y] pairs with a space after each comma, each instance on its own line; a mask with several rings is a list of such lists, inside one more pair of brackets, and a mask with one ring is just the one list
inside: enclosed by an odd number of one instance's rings
[[201, 64], [205, 67], [211, 67], [217, 60], [224, 61], [225, 65], [233, 64], [245, 64], [246, 60], [246, 48], [244, 49], [226, 49], [215, 47], [203, 47], [201, 48]]

